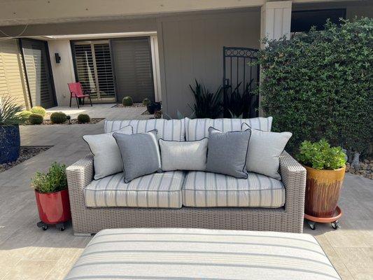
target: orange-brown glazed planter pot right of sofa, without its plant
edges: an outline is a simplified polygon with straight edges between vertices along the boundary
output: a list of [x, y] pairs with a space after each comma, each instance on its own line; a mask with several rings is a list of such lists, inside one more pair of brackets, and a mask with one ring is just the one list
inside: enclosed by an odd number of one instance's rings
[[319, 218], [332, 217], [337, 208], [346, 167], [335, 170], [304, 167], [307, 169], [304, 213]]

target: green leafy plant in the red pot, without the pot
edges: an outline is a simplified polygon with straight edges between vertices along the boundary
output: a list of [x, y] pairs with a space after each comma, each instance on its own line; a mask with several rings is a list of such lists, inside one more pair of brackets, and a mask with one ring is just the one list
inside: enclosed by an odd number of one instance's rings
[[36, 172], [31, 185], [38, 193], [55, 193], [66, 189], [66, 165], [53, 162], [47, 173]]

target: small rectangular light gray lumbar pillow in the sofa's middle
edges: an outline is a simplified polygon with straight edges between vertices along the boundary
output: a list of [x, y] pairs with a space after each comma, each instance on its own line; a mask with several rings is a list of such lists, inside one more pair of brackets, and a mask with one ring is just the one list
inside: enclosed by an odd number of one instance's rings
[[206, 170], [209, 139], [198, 141], [159, 140], [162, 170]]

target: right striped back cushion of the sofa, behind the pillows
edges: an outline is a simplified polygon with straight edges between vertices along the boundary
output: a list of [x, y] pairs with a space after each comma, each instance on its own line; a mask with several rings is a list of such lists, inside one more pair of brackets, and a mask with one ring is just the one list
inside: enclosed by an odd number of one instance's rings
[[241, 125], [247, 123], [255, 130], [270, 132], [272, 117], [268, 118], [185, 118], [186, 141], [200, 140], [209, 136], [209, 127], [214, 127], [222, 132], [241, 131]]

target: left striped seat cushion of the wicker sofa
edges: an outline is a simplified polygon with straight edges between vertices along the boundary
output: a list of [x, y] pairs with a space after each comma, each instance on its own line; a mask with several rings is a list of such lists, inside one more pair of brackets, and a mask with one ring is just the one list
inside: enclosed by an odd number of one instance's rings
[[87, 207], [180, 208], [184, 172], [163, 172], [125, 183], [123, 173], [92, 181], [83, 192]]

